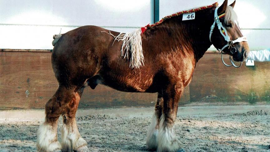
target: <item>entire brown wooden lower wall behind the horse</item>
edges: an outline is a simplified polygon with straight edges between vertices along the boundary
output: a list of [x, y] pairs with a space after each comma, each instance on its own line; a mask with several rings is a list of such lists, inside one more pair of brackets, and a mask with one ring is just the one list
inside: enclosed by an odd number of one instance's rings
[[[58, 87], [50, 52], [0, 51], [0, 109], [42, 109]], [[206, 53], [179, 104], [270, 102], [270, 63], [226, 67], [220, 54]], [[26, 95], [28, 90], [29, 94]], [[98, 85], [86, 88], [80, 108], [152, 106], [157, 94], [125, 93]]]

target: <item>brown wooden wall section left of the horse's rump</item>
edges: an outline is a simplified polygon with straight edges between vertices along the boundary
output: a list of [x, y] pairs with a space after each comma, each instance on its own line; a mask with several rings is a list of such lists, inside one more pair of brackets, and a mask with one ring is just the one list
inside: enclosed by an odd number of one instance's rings
[[49, 52], [0, 52], [1, 109], [44, 108], [58, 87], [50, 58]]

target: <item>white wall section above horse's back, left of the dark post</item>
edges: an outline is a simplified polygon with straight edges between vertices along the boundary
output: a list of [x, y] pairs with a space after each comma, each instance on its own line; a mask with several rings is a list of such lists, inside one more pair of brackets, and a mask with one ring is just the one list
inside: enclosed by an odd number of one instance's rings
[[0, 0], [0, 48], [52, 49], [61, 28], [83, 25], [133, 31], [150, 23], [150, 12], [150, 0]]

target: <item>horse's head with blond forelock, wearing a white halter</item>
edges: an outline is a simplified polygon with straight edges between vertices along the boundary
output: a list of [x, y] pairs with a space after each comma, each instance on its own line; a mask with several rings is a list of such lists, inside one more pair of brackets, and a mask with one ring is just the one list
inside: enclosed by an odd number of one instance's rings
[[211, 26], [210, 41], [223, 53], [232, 55], [234, 61], [245, 61], [249, 53], [247, 39], [238, 26], [237, 15], [233, 10], [235, 1], [227, 6], [227, 0], [215, 9], [214, 23]]

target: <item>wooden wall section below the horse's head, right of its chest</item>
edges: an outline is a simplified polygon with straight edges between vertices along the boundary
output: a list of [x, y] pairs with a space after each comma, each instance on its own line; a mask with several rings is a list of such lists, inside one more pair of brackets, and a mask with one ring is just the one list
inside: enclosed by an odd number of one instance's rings
[[[228, 60], [227, 60], [228, 61]], [[229, 61], [228, 61], [229, 63]], [[190, 87], [191, 102], [270, 102], [270, 62], [226, 67], [221, 55], [207, 53], [199, 60]]]

